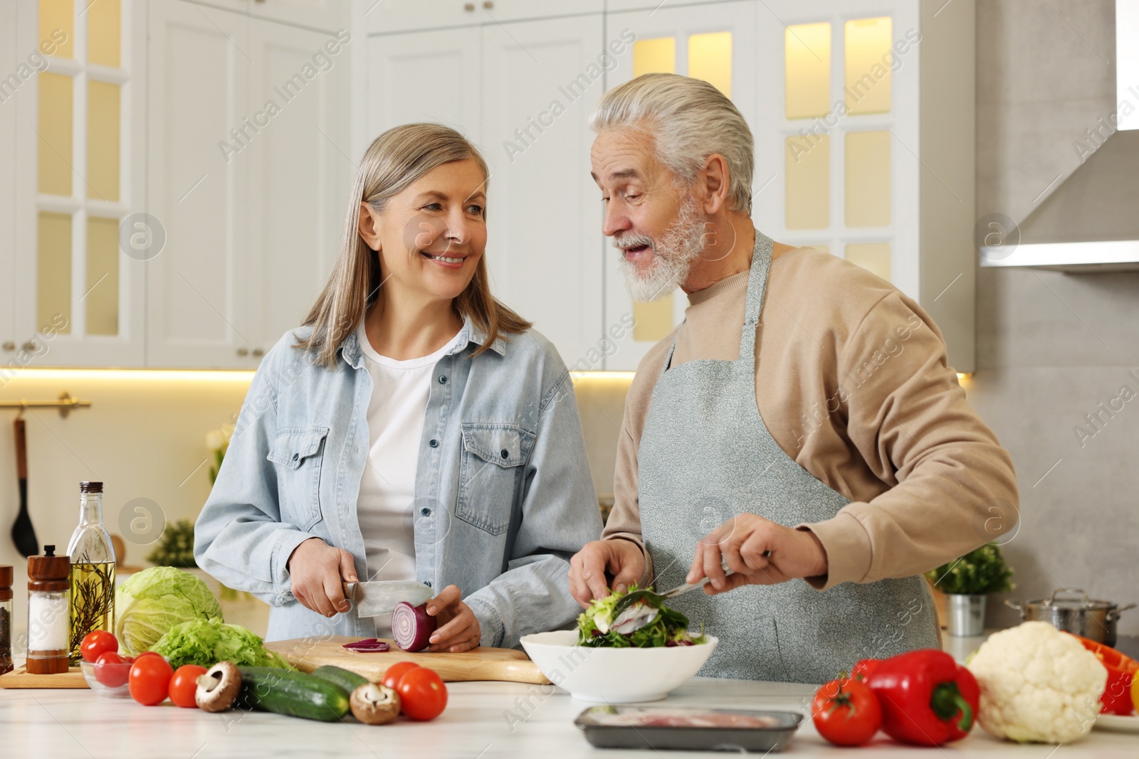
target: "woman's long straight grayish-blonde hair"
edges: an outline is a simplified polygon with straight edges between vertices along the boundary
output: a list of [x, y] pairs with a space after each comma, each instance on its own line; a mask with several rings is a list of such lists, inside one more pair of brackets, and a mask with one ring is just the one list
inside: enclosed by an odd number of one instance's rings
[[[379, 298], [383, 282], [379, 254], [360, 237], [360, 204], [367, 203], [376, 213], [383, 213], [388, 200], [427, 172], [452, 160], [468, 158], [478, 164], [484, 178], [490, 178], [478, 149], [442, 124], [395, 126], [368, 146], [352, 183], [336, 265], [304, 320], [305, 327], [312, 327], [312, 333], [294, 348], [312, 350], [317, 364], [331, 369], [341, 343]], [[486, 189], [485, 183], [483, 189]], [[486, 212], [483, 211], [485, 217]], [[524, 332], [531, 327], [530, 322], [491, 295], [485, 256], [480, 257], [474, 278], [454, 298], [453, 305], [460, 316], [469, 319], [486, 336], [474, 355], [489, 349], [500, 333]]]

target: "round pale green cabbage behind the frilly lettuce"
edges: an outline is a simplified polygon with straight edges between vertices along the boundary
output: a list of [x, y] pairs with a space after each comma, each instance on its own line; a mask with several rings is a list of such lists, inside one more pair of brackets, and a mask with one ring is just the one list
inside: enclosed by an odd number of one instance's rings
[[199, 577], [151, 567], [128, 577], [115, 596], [115, 637], [129, 657], [147, 651], [175, 625], [221, 619], [221, 607]]

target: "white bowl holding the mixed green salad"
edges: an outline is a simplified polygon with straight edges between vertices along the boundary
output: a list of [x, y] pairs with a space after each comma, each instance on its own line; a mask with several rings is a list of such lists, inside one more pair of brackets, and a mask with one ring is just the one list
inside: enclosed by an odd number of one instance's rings
[[577, 645], [577, 630], [535, 633], [522, 647], [555, 685], [593, 703], [659, 701], [704, 666], [719, 638], [657, 649], [590, 649]]

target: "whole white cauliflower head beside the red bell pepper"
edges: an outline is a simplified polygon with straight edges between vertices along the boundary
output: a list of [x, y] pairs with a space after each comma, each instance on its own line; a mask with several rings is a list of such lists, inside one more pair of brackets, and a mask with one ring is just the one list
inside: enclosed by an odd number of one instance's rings
[[1070, 743], [1099, 715], [1107, 670], [1048, 622], [994, 633], [968, 662], [981, 685], [981, 726], [1022, 743]]

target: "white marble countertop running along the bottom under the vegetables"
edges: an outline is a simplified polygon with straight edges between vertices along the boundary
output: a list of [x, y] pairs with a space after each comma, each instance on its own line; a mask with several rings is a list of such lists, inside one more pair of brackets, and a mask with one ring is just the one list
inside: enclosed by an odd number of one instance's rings
[[[543, 696], [539, 686], [515, 683], [451, 683], [446, 711], [432, 723], [401, 721], [367, 726], [354, 720], [316, 723], [279, 715], [229, 712], [208, 715], [166, 703], [142, 707], [130, 700], [100, 699], [90, 691], [0, 691], [0, 757], [129, 757], [206, 759], [212, 757], [618, 757], [649, 756], [629, 750], [593, 749], [573, 720], [589, 707], [557, 692]], [[809, 715], [809, 685], [695, 678], [666, 701], [674, 706], [788, 709]], [[530, 706], [525, 706], [528, 701]], [[521, 723], [511, 725], [508, 712]], [[1024, 757], [1025, 759], [1114, 759], [1139, 756], [1139, 735], [1093, 729], [1082, 741], [1055, 745], [1017, 745], [997, 741], [975, 727], [964, 741], [940, 751], [903, 746], [884, 734], [870, 744], [878, 756]], [[788, 754], [858, 756], [831, 746], [808, 717], [792, 740]], [[715, 756], [679, 751], [653, 752], [655, 759]], [[759, 754], [755, 754], [759, 756]]]

